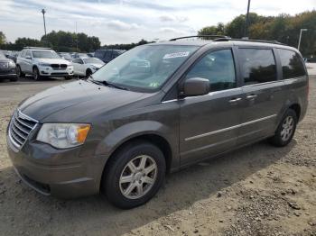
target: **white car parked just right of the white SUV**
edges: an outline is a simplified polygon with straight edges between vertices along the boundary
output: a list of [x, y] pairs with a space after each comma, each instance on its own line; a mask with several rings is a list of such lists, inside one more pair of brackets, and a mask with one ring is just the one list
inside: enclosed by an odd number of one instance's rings
[[72, 59], [73, 74], [80, 77], [89, 77], [105, 63], [96, 58]]

